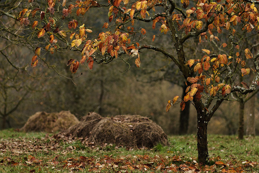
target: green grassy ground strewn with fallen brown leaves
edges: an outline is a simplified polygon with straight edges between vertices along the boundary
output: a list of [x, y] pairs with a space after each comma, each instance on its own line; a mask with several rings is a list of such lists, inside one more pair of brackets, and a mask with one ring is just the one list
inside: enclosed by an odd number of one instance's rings
[[259, 137], [208, 135], [210, 164], [199, 166], [196, 136], [133, 149], [53, 134], [0, 131], [0, 172], [259, 172]]

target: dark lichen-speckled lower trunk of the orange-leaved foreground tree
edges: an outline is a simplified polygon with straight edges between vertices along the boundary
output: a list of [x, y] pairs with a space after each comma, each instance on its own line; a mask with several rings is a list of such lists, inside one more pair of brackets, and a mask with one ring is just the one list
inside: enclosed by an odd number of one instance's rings
[[209, 161], [209, 151], [207, 142], [207, 126], [206, 112], [197, 110], [197, 148], [199, 163], [207, 163]]

